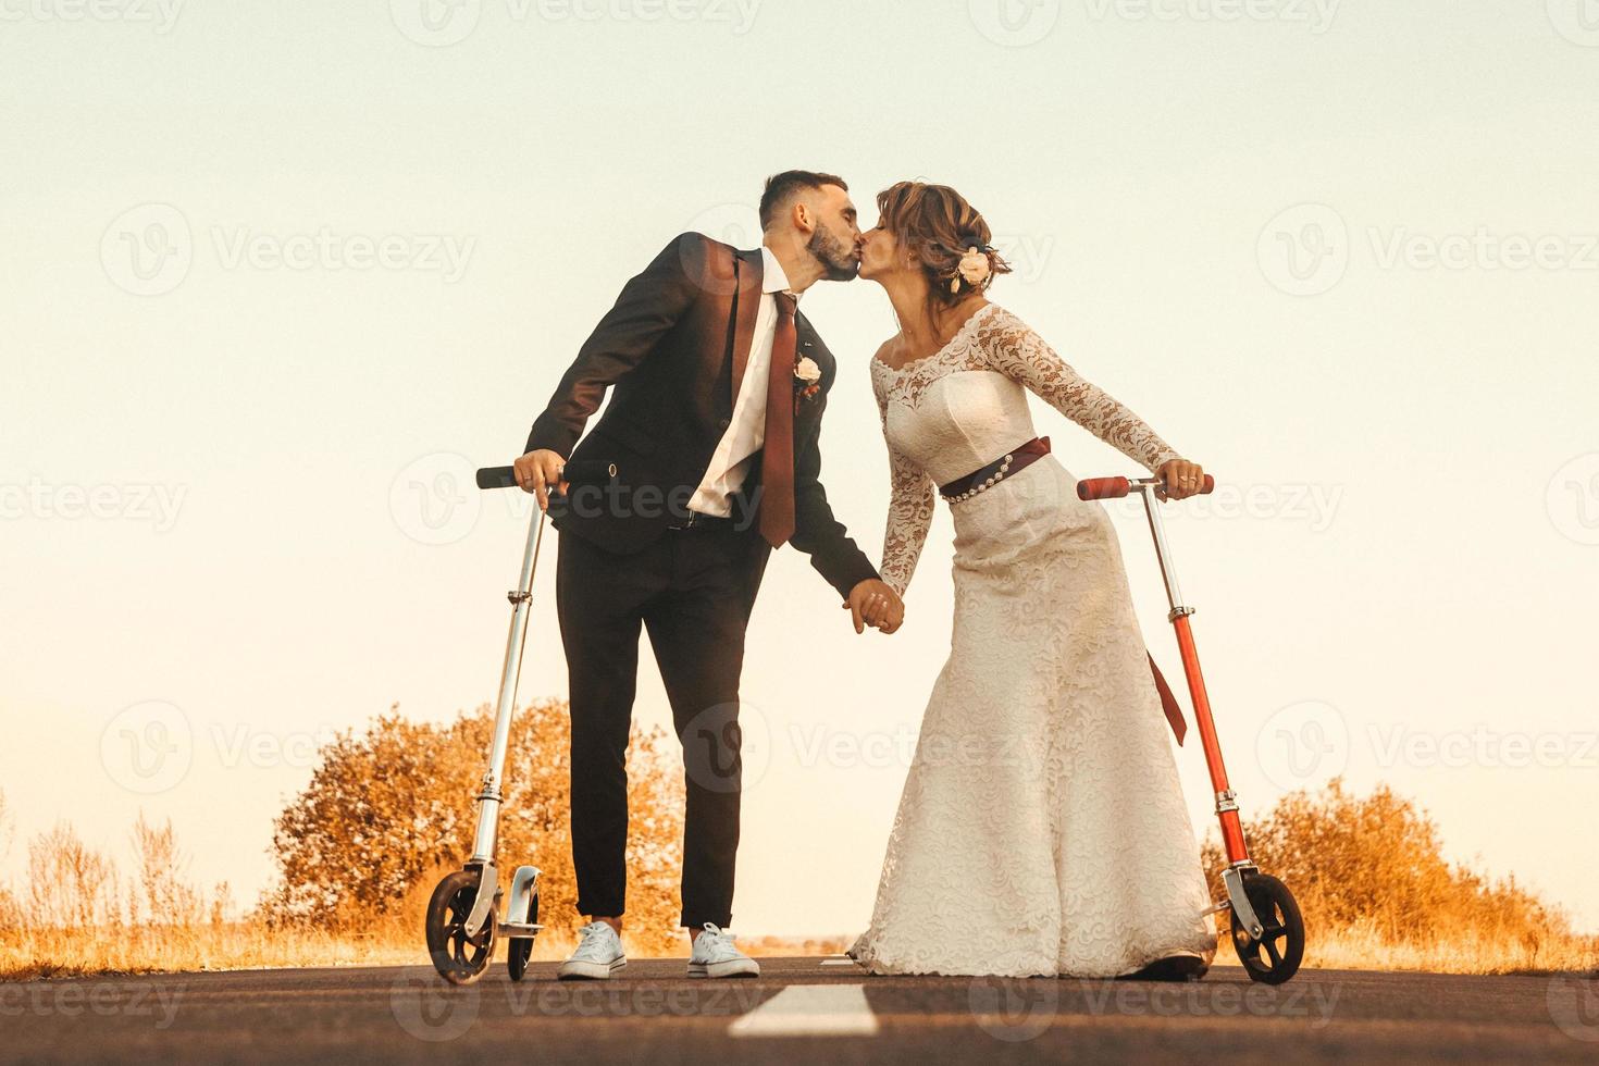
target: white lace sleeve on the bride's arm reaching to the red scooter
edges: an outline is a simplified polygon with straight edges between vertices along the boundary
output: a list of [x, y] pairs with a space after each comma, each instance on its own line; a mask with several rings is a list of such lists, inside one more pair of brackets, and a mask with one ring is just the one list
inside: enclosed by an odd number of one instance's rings
[[1150, 473], [1170, 459], [1182, 459], [1143, 419], [1062, 361], [1027, 323], [1004, 308], [996, 310], [977, 331], [979, 347], [993, 369], [1022, 382]]

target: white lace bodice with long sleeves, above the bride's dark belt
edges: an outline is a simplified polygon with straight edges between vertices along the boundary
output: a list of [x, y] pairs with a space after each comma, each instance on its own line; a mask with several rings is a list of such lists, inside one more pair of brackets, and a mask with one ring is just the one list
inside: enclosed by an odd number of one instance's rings
[[900, 368], [871, 360], [892, 497], [878, 571], [903, 593], [937, 486], [1035, 436], [1027, 390], [1151, 473], [1178, 459], [1143, 419], [1083, 379], [1020, 318], [987, 304], [939, 352]]

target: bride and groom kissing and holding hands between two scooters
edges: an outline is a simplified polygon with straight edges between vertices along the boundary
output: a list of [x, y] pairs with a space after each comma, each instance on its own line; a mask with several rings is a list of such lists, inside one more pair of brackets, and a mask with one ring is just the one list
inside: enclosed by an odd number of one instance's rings
[[[688, 973], [760, 973], [729, 925], [739, 674], [768, 558], [793, 545], [857, 633], [894, 633], [942, 495], [955, 521], [950, 657], [870, 929], [849, 954], [873, 973], [1196, 980], [1215, 933], [1162, 722], [1175, 705], [1151, 678], [1115, 527], [1076, 499], [1027, 393], [1158, 475], [1159, 495], [1193, 495], [1204, 471], [988, 300], [1009, 265], [964, 197], [897, 182], [876, 206], [862, 232], [841, 177], [785, 171], [766, 181], [760, 248], [673, 238], [595, 326], [515, 462], [560, 532], [572, 860], [588, 919], [560, 977], [627, 965], [641, 626], [684, 745]], [[857, 275], [899, 320], [870, 368], [892, 481], [879, 566], [822, 487], [838, 364], [798, 308], [814, 283]], [[563, 505], [563, 467], [580, 460], [616, 463], [608, 505]]]

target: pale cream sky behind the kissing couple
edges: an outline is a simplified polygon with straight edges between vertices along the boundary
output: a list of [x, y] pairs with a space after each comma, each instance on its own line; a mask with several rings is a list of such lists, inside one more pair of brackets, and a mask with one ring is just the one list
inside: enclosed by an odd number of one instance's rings
[[[58, 818], [126, 869], [142, 809], [253, 901], [318, 738], [492, 700], [529, 510], [464, 478], [654, 251], [755, 245], [763, 177], [806, 166], [867, 224], [897, 179], [961, 189], [1017, 264], [993, 299], [1222, 483], [1166, 516], [1246, 829], [1386, 782], [1599, 930], [1593, 3], [419, 3], [0, 0], [13, 882]], [[892, 315], [862, 281], [804, 307], [876, 559]], [[1036, 408], [1075, 475], [1138, 473]], [[950, 537], [940, 505], [892, 638], [772, 559], [740, 933], [865, 925]], [[566, 694], [553, 599], [550, 566], [524, 700]], [[648, 649], [636, 714], [670, 722]], [[1178, 766], [1204, 831], [1196, 738]]]

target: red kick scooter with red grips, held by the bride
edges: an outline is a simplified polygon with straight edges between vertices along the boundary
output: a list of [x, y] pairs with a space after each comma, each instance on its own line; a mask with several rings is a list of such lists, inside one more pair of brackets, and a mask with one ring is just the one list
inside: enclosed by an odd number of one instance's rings
[[[1305, 957], [1305, 919], [1300, 917], [1294, 893], [1281, 881], [1260, 873], [1244, 847], [1244, 829], [1238, 821], [1238, 794], [1226, 783], [1226, 766], [1222, 762], [1222, 746], [1215, 738], [1215, 722], [1210, 719], [1210, 698], [1199, 673], [1199, 654], [1188, 626], [1193, 607], [1183, 606], [1177, 591], [1177, 571], [1172, 567], [1172, 551], [1166, 545], [1166, 529], [1161, 526], [1159, 497], [1154, 489], [1159, 478], [1089, 478], [1078, 481], [1079, 500], [1119, 500], [1129, 492], [1143, 497], [1143, 511], [1150, 518], [1154, 535], [1154, 556], [1161, 561], [1161, 577], [1166, 579], [1167, 614], [1177, 630], [1177, 647], [1183, 655], [1183, 674], [1194, 700], [1194, 721], [1199, 726], [1199, 742], [1204, 745], [1204, 761], [1210, 769], [1210, 785], [1215, 790], [1215, 817], [1222, 823], [1222, 845], [1226, 849], [1226, 869], [1222, 885], [1226, 900], [1206, 911], [1230, 911], [1233, 919], [1233, 948], [1244, 964], [1249, 980], [1262, 984], [1282, 984], [1298, 972]], [[1215, 478], [1206, 475], [1201, 492], [1215, 489]]]

